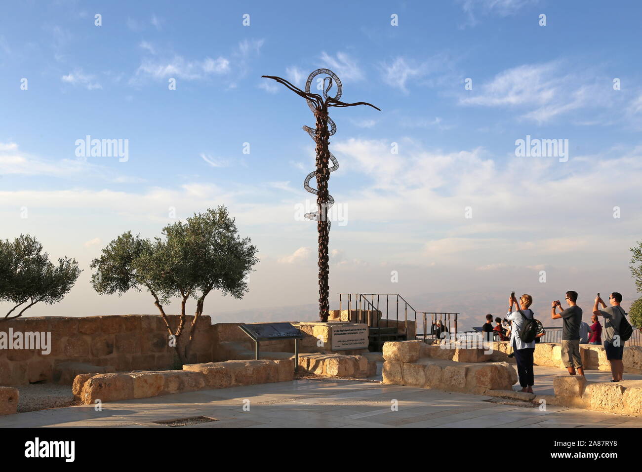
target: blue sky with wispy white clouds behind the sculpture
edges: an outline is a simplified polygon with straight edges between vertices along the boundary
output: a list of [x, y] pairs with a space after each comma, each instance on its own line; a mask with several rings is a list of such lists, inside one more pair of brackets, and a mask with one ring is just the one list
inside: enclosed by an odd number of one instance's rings
[[[641, 13], [635, 1], [5, 4], [0, 237], [30, 232], [86, 269], [62, 304], [33, 314], [149, 313], [144, 295], [92, 293], [91, 258], [128, 229], [159, 234], [169, 207], [185, 218], [226, 204], [261, 263], [247, 297], [212, 299], [211, 313], [288, 307], [313, 319], [315, 225], [293, 215], [309, 198], [301, 127], [314, 119], [261, 75], [302, 87], [328, 67], [342, 100], [381, 108], [331, 110], [340, 168], [329, 185], [347, 216], [331, 231], [331, 293], [399, 292], [471, 317], [503, 308], [512, 289], [541, 310], [571, 285], [580, 301], [619, 289], [630, 302]], [[85, 135], [127, 139], [128, 160], [76, 157]], [[526, 135], [568, 139], [568, 161], [516, 157]]]

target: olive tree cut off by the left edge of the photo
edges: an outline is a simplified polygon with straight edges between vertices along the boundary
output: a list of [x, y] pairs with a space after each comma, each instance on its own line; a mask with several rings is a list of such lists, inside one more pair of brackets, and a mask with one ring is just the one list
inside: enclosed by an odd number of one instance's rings
[[74, 286], [80, 268], [76, 259], [58, 259], [55, 265], [42, 244], [28, 234], [13, 241], [0, 240], [0, 302], [13, 308], [1, 320], [22, 316], [33, 305], [61, 301]]

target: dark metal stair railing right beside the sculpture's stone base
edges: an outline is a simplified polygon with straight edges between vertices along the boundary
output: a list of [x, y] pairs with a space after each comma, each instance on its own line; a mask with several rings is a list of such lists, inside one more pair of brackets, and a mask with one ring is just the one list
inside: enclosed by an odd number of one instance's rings
[[[405, 332], [408, 333], [408, 311], [410, 311], [410, 319], [415, 320], [415, 335], [419, 328], [419, 322], [423, 324], [422, 336], [424, 340], [426, 339], [426, 333], [428, 329], [431, 333], [434, 333], [435, 330], [433, 326], [437, 323], [437, 320], [440, 320], [442, 326], [447, 327], [447, 331], [451, 332], [454, 329], [454, 332], [457, 333], [457, 318], [459, 313], [440, 313], [435, 311], [417, 311], [413, 306], [404, 299], [399, 293], [339, 293], [339, 310], [343, 310], [343, 302], [348, 304], [348, 313], [352, 310], [352, 303], [354, 302], [354, 310], [357, 310], [357, 322], [367, 322], [370, 328], [379, 328], [380, 323], [379, 319], [385, 320], [395, 320], [397, 326], [399, 326], [399, 308], [403, 311], [403, 322], [405, 326]], [[383, 312], [383, 303], [385, 302], [385, 313]], [[392, 312], [394, 312], [394, 317], [391, 318], [390, 304], [394, 305]], [[381, 307], [381, 308], [380, 308]], [[376, 316], [370, 316], [367, 319], [369, 313], [376, 313]], [[379, 312], [381, 312], [381, 317], [379, 317]], [[419, 316], [419, 320], [417, 317]], [[428, 318], [430, 319], [430, 326], [428, 327]], [[389, 324], [386, 322], [386, 327]]]

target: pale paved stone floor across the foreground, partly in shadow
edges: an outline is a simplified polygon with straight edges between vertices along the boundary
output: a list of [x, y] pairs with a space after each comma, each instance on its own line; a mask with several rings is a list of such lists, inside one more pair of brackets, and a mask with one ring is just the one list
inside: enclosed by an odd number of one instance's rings
[[[194, 428], [639, 428], [642, 418], [574, 408], [498, 405], [486, 396], [358, 380], [295, 380], [201, 390], [93, 406], [69, 406], [0, 417], [10, 427], [169, 428], [155, 421], [218, 421]], [[392, 401], [398, 405], [391, 410]], [[249, 411], [243, 405], [249, 405]]]

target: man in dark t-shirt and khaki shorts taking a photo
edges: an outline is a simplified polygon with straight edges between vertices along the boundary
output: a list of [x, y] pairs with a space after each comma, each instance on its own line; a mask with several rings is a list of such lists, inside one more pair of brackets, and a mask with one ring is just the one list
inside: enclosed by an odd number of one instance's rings
[[[566, 303], [569, 308], [562, 310], [562, 304], [559, 300], [551, 302], [551, 319], [562, 319], [562, 362], [568, 369], [568, 373], [575, 375], [575, 366], [577, 372], [584, 375], [582, 367], [582, 356], [580, 355], [580, 324], [582, 323], [582, 308], [577, 306], [577, 292], [569, 290], [566, 292]], [[562, 310], [556, 313], [557, 307]], [[575, 364], [575, 365], [574, 365]]]

